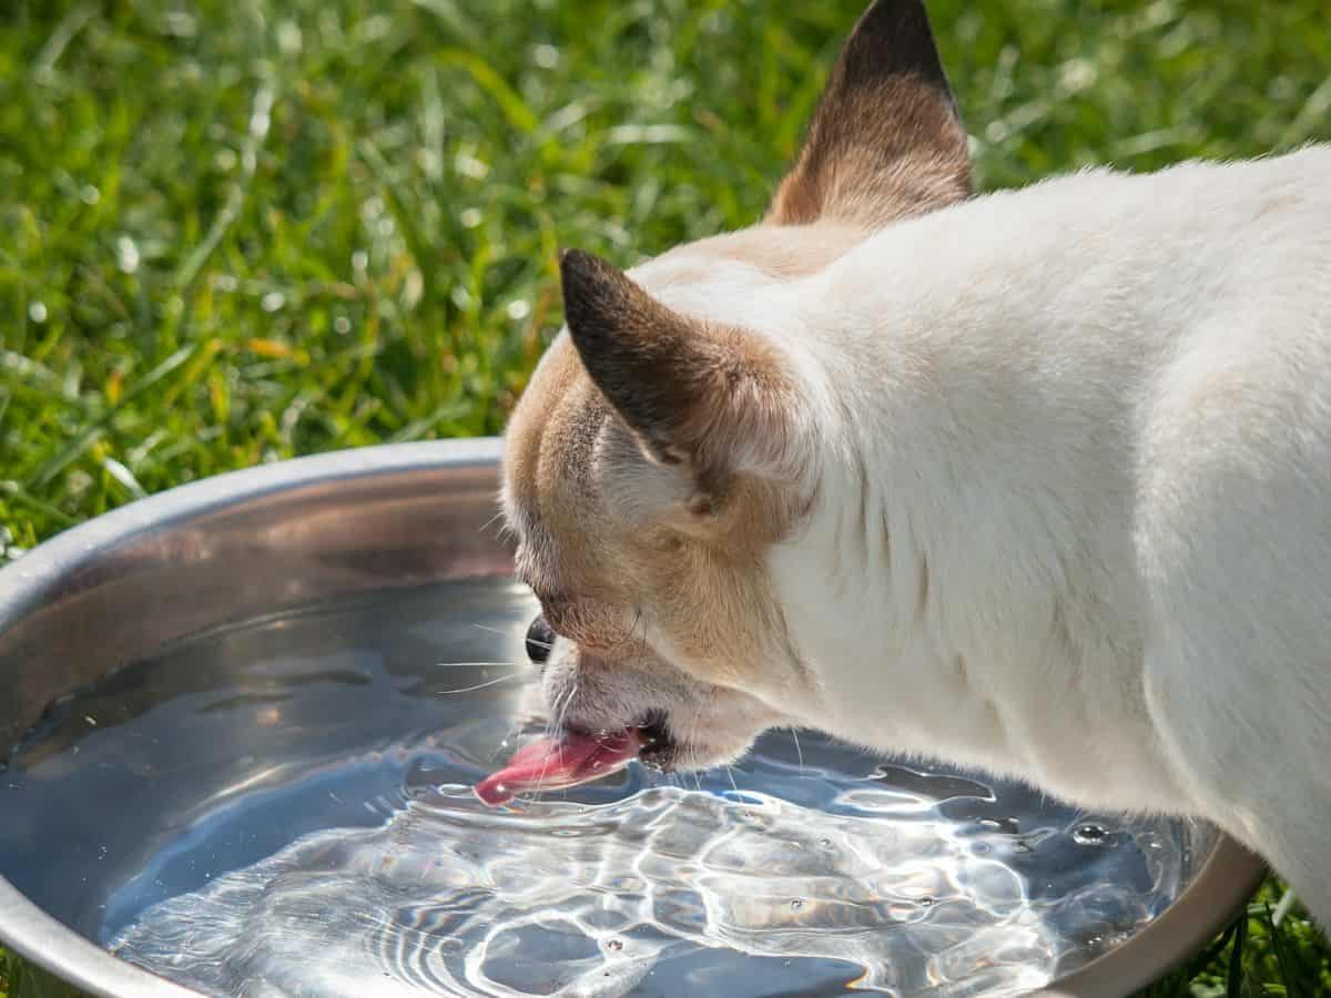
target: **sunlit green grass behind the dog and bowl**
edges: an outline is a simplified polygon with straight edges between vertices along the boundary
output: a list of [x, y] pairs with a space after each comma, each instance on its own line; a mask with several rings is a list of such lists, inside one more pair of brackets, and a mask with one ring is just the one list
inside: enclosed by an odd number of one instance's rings
[[[0, 560], [220, 471], [496, 431], [556, 248], [630, 263], [752, 221], [860, 5], [5, 0]], [[1322, 0], [932, 13], [984, 188], [1331, 137]], [[1278, 897], [1244, 993], [1331, 993]]]

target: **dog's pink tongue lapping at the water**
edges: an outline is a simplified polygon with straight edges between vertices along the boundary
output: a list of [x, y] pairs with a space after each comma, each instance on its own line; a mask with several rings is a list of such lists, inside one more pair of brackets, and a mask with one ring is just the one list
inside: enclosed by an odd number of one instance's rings
[[542, 739], [519, 749], [508, 765], [473, 789], [491, 806], [511, 801], [523, 790], [556, 790], [614, 773], [638, 757], [642, 736], [636, 731], [614, 735], [567, 733], [559, 741]]

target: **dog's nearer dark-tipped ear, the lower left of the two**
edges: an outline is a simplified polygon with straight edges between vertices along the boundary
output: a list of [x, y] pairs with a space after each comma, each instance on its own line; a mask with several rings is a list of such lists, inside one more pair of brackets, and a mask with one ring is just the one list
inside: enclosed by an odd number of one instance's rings
[[736, 472], [783, 474], [795, 393], [772, 346], [680, 315], [591, 253], [566, 250], [559, 270], [583, 366], [651, 460], [695, 476], [699, 511]]

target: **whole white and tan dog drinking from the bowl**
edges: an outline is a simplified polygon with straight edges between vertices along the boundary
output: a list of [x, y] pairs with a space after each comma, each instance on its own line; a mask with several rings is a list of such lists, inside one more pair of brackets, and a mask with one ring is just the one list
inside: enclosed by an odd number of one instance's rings
[[566, 255], [504, 488], [551, 703], [1205, 816], [1326, 926], [1331, 149], [965, 201], [921, 39], [870, 8], [763, 225]]

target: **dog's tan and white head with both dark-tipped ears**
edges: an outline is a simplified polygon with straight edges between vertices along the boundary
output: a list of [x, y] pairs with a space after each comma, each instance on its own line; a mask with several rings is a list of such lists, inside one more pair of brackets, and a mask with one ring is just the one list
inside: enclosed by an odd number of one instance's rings
[[767, 556], [817, 502], [829, 403], [788, 290], [969, 190], [924, 7], [880, 0], [761, 224], [627, 274], [563, 254], [567, 327], [514, 411], [503, 483], [519, 576], [567, 639], [544, 676], [558, 720], [648, 728], [646, 758], [695, 768], [807, 716], [819, 679]]

